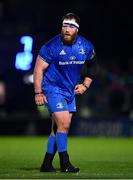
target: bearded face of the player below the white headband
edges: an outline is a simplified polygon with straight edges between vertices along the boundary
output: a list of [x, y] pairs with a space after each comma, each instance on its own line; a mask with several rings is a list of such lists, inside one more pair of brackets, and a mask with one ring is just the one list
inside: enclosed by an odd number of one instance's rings
[[[73, 20], [73, 21], [75, 21], [75, 20]], [[71, 25], [63, 25], [62, 26], [61, 35], [62, 35], [63, 41], [66, 44], [73, 43], [77, 36], [77, 33], [78, 33], [78, 29], [74, 26], [71, 26]]]

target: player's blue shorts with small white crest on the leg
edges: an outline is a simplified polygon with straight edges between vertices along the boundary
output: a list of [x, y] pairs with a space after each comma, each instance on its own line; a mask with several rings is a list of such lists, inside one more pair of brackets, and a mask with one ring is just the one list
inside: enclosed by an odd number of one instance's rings
[[47, 101], [45, 105], [50, 113], [61, 111], [76, 112], [75, 98], [69, 102], [63, 97], [47, 97]]

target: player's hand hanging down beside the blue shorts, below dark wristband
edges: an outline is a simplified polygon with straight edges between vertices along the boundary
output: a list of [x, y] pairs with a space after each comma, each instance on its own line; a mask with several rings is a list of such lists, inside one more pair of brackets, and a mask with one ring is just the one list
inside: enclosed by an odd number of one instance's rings
[[46, 96], [44, 94], [35, 94], [36, 105], [42, 106], [47, 103]]

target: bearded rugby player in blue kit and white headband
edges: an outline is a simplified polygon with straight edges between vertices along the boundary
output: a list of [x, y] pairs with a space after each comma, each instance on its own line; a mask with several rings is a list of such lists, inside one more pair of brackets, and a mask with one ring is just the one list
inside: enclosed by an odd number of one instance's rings
[[[93, 44], [78, 35], [80, 18], [68, 13], [62, 18], [61, 33], [46, 42], [40, 49], [34, 68], [34, 91], [37, 105], [46, 105], [53, 128], [48, 138], [47, 151], [41, 172], [53, 172], [52, 161], [59, 153], [61, 172], [79, 172], [70, 162], [67, 139], [72, 114], [76, 112], [75, 95], [83, 94], [96, 75], [96, 58]], [[83, 82], [81, 69], [87, 67]], [[76, 153], [76, 152], [75, 152]]]

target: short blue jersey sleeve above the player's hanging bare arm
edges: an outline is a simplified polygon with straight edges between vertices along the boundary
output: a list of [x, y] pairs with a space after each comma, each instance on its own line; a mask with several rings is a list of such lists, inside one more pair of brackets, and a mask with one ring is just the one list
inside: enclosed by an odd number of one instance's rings
[[52, 54], [50, 52], [50, 48], [47, 45], [43, 45], [39, 51], [39, 56], [41, 56], [43, 58], [43, 60], [45, 62], [47, 62], [48, 64], [51, 63], [52, 61]]

